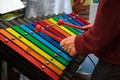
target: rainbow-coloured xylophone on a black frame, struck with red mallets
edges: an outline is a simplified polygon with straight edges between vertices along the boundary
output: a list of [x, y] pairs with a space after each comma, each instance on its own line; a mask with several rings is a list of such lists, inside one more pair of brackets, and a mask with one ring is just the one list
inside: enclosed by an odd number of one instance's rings
[[[1, 20], [0, 55], [31, 80], [72, 80], [86, 55], [70, 57], [59, 41], [83, 31], [66, 25], [59, 26], [59, 19], [77, 26], [89, 24], [75, 13]], [[43, 30], [35, 32], [36, 26], [42, 26]]]

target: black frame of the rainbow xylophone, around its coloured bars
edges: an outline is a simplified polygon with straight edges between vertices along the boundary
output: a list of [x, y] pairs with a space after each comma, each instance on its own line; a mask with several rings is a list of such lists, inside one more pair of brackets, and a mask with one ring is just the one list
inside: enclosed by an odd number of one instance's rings
[[[40, 20], [41, 18], [23, 18], [17, 19], [17, 20], [11, 20], [10, 21], [1, 21], [0, 26], [2, 28], [7, 28], [13, 25], [20, 25], [20, 24], [26, 24], [26, 23], [32, 23], [32, 21]], [[2, 35], [2, 34], [1, 34]], [[3, 35], [2, 35], [3, 36]], [[42, 71], [38, 72], [38, 69], [33, 66], [30, 62], [25, 60], [23, 57], [18, 55], [13, 49], [11, 49], [9, 46], [7, 46], [5, 43], [3, 43], [0, 40], [0, 56], [2, 56], [3, 59], [5, 59], [10, 65], [14, 66], [16, 69], [21, 71], [23, 74], [25, 74], [27, 77], [29, 77], [31, 80], [51, 80], [49, 76], [47, 76]], [[9, 53], [9, 54], [6, 54]], [[16, 55], [14, 55], [16, 54]], [[78, 69], [79, 65], [84, 61], [87, 55], [77, 55], [74, 57], [74, 59], [70, 62], [70, 65], [67, 66], [67, 68], [63, 71], [63, 74], [61, 75], [59, 80], [74, 80], [73, 76], [76, 73], [76, 70]], [[20, 61], [20, 63], [18, 62]], [[23, 66], [24, 65], [24, 66]], [[29, 70], [31, 69], [31, 70]]]

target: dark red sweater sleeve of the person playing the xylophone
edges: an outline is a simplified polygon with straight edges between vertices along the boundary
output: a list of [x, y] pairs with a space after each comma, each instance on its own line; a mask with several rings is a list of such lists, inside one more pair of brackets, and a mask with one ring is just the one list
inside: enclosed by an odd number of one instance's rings
[[75, 38], [78, 54], [100, 51], [120, 34], [120, 0], [101, 0], [92, 28]]

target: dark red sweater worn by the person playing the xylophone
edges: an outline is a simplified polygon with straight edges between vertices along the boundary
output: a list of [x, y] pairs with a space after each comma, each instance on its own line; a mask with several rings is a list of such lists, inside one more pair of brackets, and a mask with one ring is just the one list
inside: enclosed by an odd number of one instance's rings
[[75, 38], [78, 54], [120, 65], [120, 0], [100, 0], [92, 28]]

